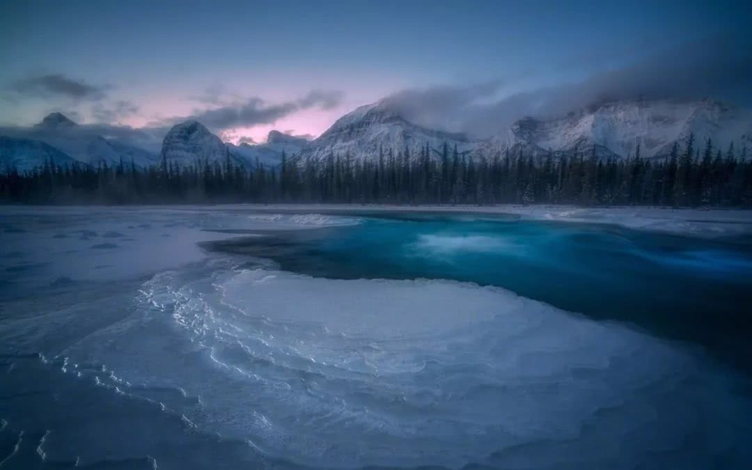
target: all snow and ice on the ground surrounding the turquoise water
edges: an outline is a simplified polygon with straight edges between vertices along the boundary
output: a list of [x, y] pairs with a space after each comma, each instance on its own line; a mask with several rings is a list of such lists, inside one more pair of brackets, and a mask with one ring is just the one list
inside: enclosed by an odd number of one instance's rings
[[[0, 208], [0, 466], [752, 462], [747, 381], [702, 351], [496, 287], [311, 277], [199, 246], [364, 210], [397, 209]], [[399, 208], [426, 210], [752, 229], [747, 211]]]

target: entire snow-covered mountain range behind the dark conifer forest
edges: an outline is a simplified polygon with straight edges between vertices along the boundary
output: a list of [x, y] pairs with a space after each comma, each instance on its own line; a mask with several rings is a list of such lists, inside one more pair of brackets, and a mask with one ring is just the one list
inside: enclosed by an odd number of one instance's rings
[[264, 144], [235, 145], [223, 142], [201, 123], [187, 120], [166, 132], [157, 152], [117, 136], [83, 132], [86, 126], [60, 113], [50, 114], [32, 128], [14, 129], [14, 135], [0, 140], [0, 168], [31, 169], [50, 159], [89, 165], [117, 165], [122, 160], [146, 167], [163, 158], [180, 165], [229, 158], [235, 165], [272, 168], [283, 153], [303, 162], [346, 154], [374, 159], [389, 150], [417, 155], [429, 147], [437, 158], [444, 144], [472, 156], [595, 152], [600, 159], [634, 156], [639, 145], [641, 156], [653, 158], [668, 155], [675, 142], [684, 144], [692, 133], [699, 145], [708, 138], [716, 146], [732, 141], [738, 147], [752, 144], [750, 112], [712, 99], [608, 102], [566, 116], [524, 117], [483, 139], [412, 123], [390, 108], [387, 100], [345, 114], [313, 141], [271, 131]]

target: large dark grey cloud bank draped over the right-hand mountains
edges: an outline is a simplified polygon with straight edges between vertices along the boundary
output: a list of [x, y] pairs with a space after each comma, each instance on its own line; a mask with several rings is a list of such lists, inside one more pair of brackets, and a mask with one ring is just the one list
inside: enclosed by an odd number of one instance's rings
[[[741, 41], [744, 44], [744, 41]], [[496, 88], [494, 85], [496, 84]], [[752, 48], [731, 38], [673, 47], [580, 83], [494, 100], [500, 83], [405, 90], [387, 98], [405, 119], [423, 126], [487, 136], [520, 117], [549, 117], [628, 99], [702, 99], [752, 103]]]

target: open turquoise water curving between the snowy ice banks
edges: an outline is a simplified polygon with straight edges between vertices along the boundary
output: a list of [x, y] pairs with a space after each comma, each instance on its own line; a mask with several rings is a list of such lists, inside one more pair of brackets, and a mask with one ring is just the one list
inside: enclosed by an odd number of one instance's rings
[[748, 238], [690, 238], [517, 217], [394, 214], [223, 247], [315, 277], [504, 287], [567, 311], [708, 347], [743, 368], [752, 365]]

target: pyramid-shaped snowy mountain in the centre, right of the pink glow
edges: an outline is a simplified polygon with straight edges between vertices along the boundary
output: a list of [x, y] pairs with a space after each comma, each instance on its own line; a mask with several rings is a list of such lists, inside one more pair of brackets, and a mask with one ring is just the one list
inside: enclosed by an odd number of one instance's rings
[[426, 144], [436, 156], [444, 143], [450, 148], [456, 145], [460, 153], [472, 151], [478, 145], [478, 141], [463, 134], [426, 129], [410, 123], [382, 100], [361, 106], [339, 118], [319, 138], [301, 150], [299, 159], [320, 160], [330, 154], [373, 159], [378, 158], [382, 149], [386, 153], [390, 149], [403, 152], [406, 148], [415, 156]]

